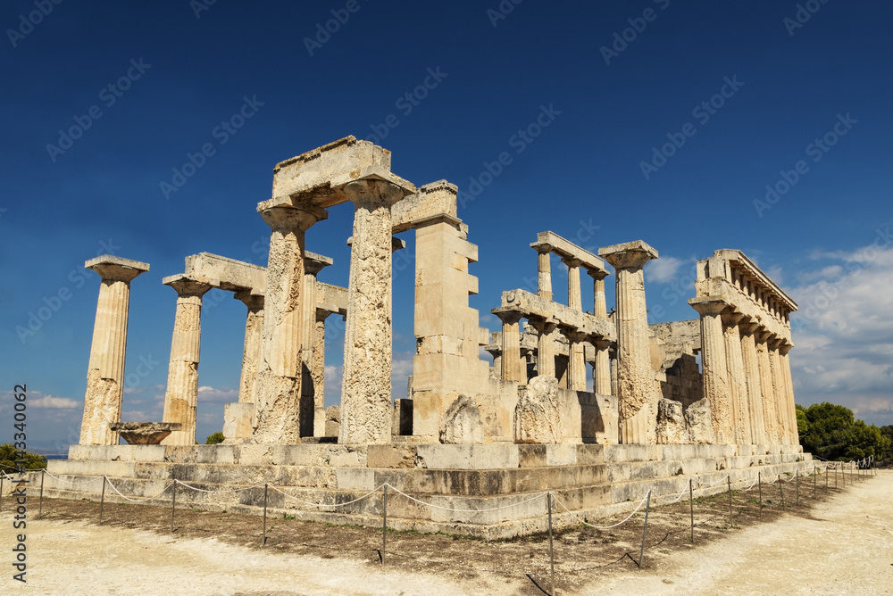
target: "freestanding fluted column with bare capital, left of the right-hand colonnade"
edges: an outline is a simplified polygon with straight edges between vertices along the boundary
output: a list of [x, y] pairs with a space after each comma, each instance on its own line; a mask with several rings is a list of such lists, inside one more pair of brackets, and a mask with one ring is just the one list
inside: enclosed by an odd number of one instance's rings
[[648, 314], [642, 268], [658, 254], [637, 240], [598, 250], [617, 273], [617, 401], [621, 443], [655, 444], [658, 394], [648, 344]]

